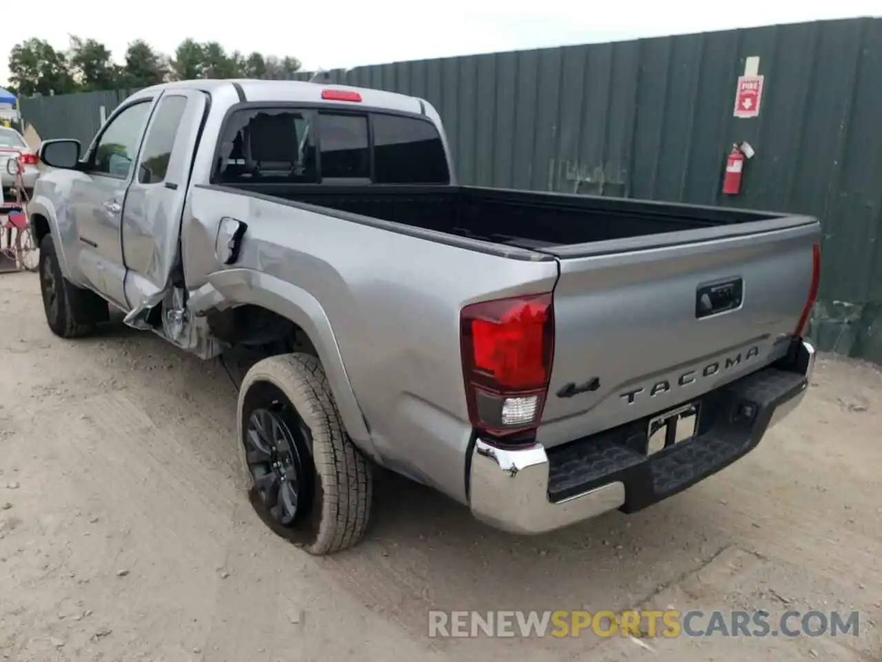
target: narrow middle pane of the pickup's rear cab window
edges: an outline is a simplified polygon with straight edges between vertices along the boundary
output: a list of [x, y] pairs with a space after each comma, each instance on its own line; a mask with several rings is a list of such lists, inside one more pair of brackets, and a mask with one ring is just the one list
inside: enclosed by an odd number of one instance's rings
[[320, 114], [318, 142], [322, 179], [370, 178], [367, 117]]

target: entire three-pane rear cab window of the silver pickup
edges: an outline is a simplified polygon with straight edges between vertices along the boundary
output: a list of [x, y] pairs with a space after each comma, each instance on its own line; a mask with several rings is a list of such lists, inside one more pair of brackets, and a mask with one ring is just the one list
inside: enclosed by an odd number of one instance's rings
[[237, 109], [222, 132], [218, 184], [450, 184], [423, 117], [337, 108]]

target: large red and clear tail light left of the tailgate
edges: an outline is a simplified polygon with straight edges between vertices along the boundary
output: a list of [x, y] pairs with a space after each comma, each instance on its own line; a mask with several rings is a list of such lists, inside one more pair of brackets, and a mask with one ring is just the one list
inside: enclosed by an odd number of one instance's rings
[[490, 437], [532, 441], [551, 376], [551, 295], [467, 305], [460, 333], [472, 425]]

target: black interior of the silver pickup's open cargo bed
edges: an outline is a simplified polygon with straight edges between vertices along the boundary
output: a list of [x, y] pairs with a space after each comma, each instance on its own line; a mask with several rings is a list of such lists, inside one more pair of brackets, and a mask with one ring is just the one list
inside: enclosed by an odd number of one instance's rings
[[468, 186], [227, 184], [229, 188], [497, 244], [542, 249], [774, 218], [718, 207]]

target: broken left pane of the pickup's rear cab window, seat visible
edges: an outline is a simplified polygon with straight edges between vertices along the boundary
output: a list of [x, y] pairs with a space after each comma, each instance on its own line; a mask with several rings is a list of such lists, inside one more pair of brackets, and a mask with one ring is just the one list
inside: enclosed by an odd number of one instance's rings
[[237, 110], [223, 132], [215, 179], [221, 184], [315, 184], [314, 133], [309, 112]]

